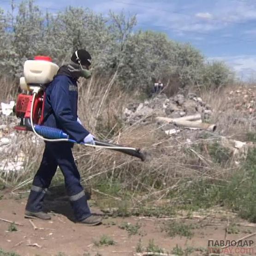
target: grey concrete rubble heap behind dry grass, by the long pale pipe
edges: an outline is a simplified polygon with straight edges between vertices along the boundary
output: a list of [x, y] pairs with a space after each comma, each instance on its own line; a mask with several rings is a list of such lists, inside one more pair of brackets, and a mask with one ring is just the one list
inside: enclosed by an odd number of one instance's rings
[[[124, 120], [129, 125], [137, 122], [149, 124], [151, 119], [148, 118], [155, 116], [158, 118], [156, 120], [160, 123], [161, 121], [176, 123], [173, 120], [195, 121], [199, 123], [203, 120], [208, 121], [211, 114], [210, 107], [193, 93], [188, 94], [186, 97], [178, 94], [171, 98], [167, 98], [165, 94], [159, 94], [143, 103], [132, 103], [128, 105], [124, 111]], [[175, 128], [175, 125], [171, 126]]]

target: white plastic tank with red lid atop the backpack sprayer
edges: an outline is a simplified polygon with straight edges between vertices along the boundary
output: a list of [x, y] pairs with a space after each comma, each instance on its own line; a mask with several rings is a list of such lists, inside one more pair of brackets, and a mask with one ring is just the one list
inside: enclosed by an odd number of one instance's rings
[[26, 60], [24, 63], [25, 82], [27, 84], [50, 83], [59, 70], [59, 66], [50, 60], [50, 58], [44, 56], [35, 58], [35, 60]]

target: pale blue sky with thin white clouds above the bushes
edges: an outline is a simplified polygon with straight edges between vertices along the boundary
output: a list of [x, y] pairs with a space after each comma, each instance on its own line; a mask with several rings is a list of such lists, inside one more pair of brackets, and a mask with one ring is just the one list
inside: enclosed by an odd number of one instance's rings
[[[20, 0], [16, 0], [16, 3]], [[190, 42], [208, 60], [224, 60], [243, 79], [256, 77], [255, 0], [36, 0], [43, 10], [89, 7], [103, 14], [137, 14], [137, 29], [156, 30]], [[8, 0], [0, 0], [4, 10]]]

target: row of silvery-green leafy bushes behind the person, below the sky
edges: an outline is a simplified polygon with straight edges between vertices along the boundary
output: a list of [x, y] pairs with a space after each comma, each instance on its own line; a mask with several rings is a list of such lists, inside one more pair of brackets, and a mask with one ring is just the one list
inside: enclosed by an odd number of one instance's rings
[[149, 95], [161, 79], [169, 94], [193, 85], [224, 86], [230, 78], [223, 63], [205, 63], [190, 44], [174, 42], [164, 33], [135, 31], [136, 16], [109, 12], [106, 18], [75, 7], [43, 14], [33, 0], [22, 1], [13, 13], [9, 17], [0, 10], [0, 69], [9, 77], [22, 75], [27, 58], [50, 55], [63, 65], [74, 50], [86, 48], [93, 56], [95, 76], [118, 74], [115, 83], [127, 91]]

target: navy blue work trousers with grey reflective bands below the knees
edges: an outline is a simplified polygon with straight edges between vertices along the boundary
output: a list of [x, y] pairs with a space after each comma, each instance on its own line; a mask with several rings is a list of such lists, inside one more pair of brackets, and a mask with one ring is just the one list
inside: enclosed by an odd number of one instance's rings
[[65, 187], [71, 207], [78, 221], [91, 215], [87, 197], [80, 184], [80, 174], [72, 155], [72, 143], [46, 142], [41, 165], [33, 180], [32, 188], [26, 205], [31, 212], [42, 211], [42, 202], [48, 187], [60, 167], [65, 178]]

